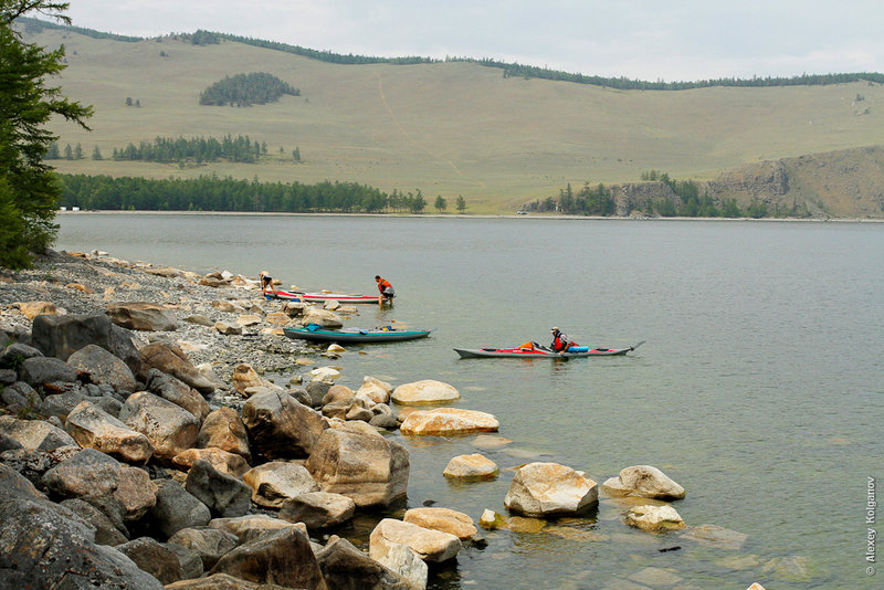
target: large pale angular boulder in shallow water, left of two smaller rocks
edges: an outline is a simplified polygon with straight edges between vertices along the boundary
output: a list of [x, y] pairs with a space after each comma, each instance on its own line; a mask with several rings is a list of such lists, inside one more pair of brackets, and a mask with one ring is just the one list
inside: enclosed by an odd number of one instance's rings
[[516, 470], [504, 505], [523, 516], [578, 514], [599, 502], [598, 485], [558, 463], [528, 463]]

